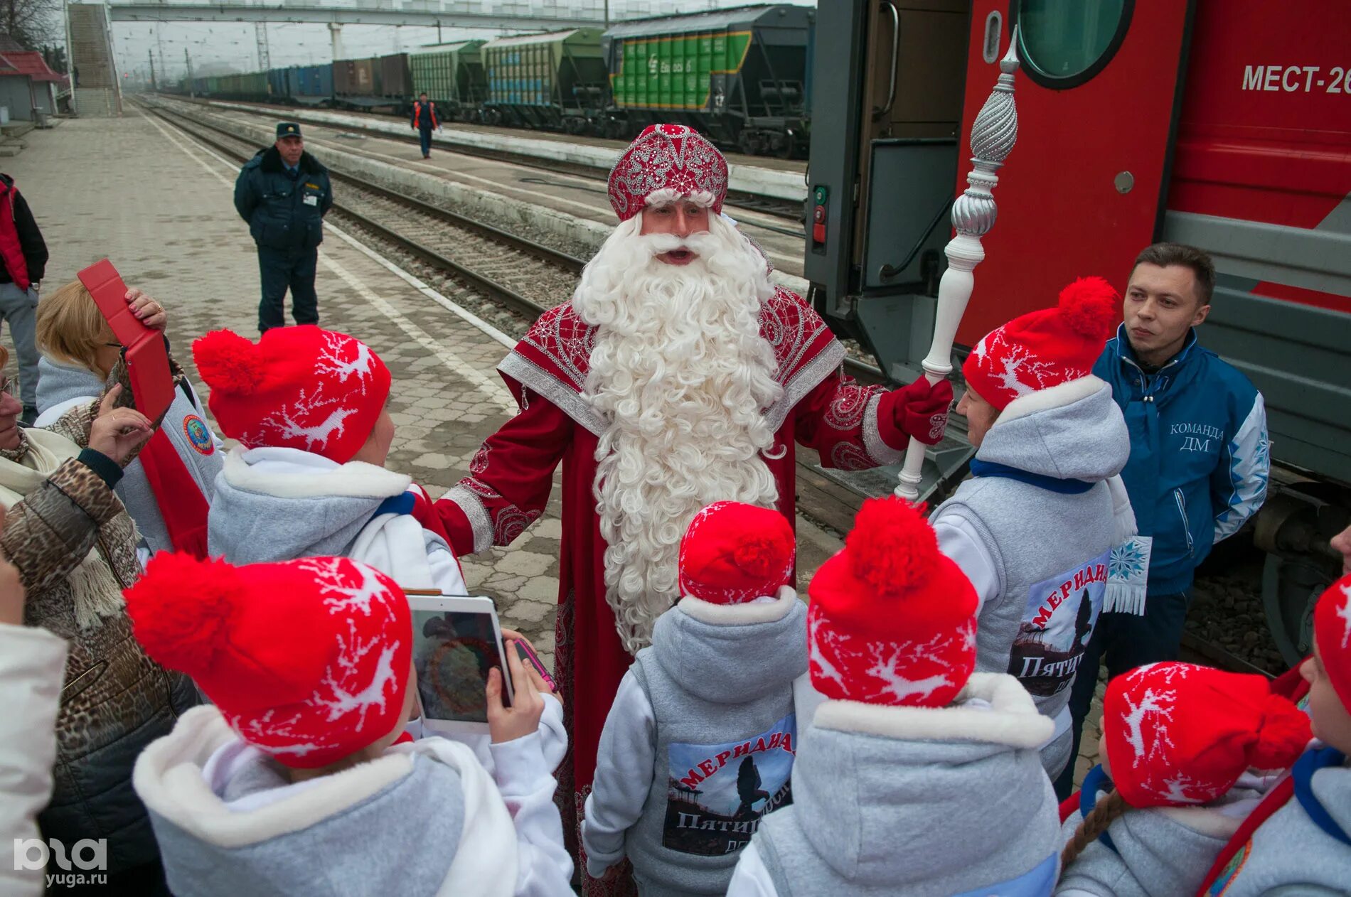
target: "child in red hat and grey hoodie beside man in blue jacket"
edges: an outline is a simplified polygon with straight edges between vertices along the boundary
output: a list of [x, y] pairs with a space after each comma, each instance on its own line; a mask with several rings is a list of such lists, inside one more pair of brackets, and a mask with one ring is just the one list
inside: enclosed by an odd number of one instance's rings
[[975, 669], [1016, 675], [1055, 721], [1042, 751], [1051, 778], [1070, 759], [1070, 686], [1111, 551], [1135, 535], [1119, 476], [1131, 436], [1112, 388], [1090, 373], [1119, 309], [1116, 290], [1088, 277], [975, 344], [957, 407], [975, 446], [971, 480], [932, 517], [943, 554], [975, 586]]

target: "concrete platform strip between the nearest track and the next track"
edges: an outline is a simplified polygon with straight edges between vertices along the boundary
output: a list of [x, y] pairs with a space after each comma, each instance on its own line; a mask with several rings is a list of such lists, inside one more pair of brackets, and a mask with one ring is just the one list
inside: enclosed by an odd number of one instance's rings
[[[272, 143], [276, 135], [274, 119], [258, 116], [259, 108], [266, 107], [231, 104], [240, 108], [224, 109], [169, 97], [150, 101], [184, 119], [224, 127], [259, 146]], [[594, 251], [615, 227], [605, 186], [593, 178], [439, 151], [423, 159], [415, 145], [354, 135], [338, 126], [307, 126], [305, 142], [336, 172], [432, 197], [447, 208], [508, 230], [524, 224]], [[777, 280], [805, 294], [804, 238], [800, 232], [782, 232], [796, 226], [763, 212], [727, 211], [763, 247]]]

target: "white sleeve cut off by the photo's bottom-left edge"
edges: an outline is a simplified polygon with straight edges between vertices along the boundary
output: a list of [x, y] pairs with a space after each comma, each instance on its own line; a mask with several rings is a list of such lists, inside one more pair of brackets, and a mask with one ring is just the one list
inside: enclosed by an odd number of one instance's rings
[[0, 623], [0, 894], [42, 894], [45, 870], [15, 869], [9, 847], [38, 838], [38, 812], [51, 800], [65, 669], [65, 639]]

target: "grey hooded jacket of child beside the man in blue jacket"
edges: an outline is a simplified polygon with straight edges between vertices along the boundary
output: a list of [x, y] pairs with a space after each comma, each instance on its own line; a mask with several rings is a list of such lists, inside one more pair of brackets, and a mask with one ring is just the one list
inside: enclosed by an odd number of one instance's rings
[[[1061, 384], [1005, 408], [973, 462], [973, 473], [977, 462], [988, 462], [1002, 467], [1000, 476], [977, 473], [932, 516], [935, 526], [974, 531], [998, 573], [997, 593], [985, 596], [979, 611], [975, 669], [1016, 675], [1042, 713], [1062, 715], [1066, 724], [1070, 685], [1120, 536], [1106, 480], [1129, 454], [1111, 388], [1096, 377]], [[1019, 473], [1032, 477], [1020, 480]], [[1027, 481], [1039, 477], [1092, 486], [1058, 492]], [[1070, 731], [1058, 728], [1042, 752], [1052, 777], [1070, 755]]]

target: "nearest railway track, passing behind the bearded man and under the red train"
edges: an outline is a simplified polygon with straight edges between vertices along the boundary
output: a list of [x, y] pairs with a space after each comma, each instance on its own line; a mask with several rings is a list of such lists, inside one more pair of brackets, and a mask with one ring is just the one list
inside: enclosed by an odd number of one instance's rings
[[[166, 116], [153, 105], [143, 108], [240, 162], [255, 150], [251, 143], [224, 128], [201, 122], [192, 122], [193, 127], [188, 127], [182, 119]], [[374, 240], [397, 247], [509, 309], [519, 320], [519, 327], [513, 328], [519, 331], [517, 335], [549, 308], [566, 301], [585, 265], [584, 259], [397, 190], [357, 181], [336, 172], [330, 172], [330, 177], [343, 184], [343, 200], [334, 203], [339, 215]], [[362, 204], [361, 211], [351, 208], [353, 197]], [[846, 358], [844, 367], [861, 382], [884, 381], [881, 370], [855, 358]], [[1182, 659], [1267, 675], [1266, 670], [1190, 632], [1182, 638]]]

